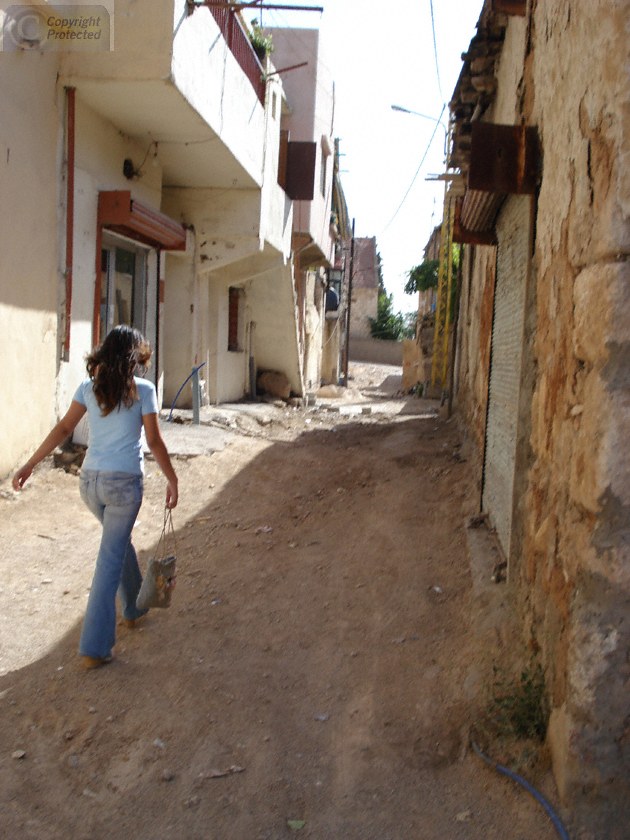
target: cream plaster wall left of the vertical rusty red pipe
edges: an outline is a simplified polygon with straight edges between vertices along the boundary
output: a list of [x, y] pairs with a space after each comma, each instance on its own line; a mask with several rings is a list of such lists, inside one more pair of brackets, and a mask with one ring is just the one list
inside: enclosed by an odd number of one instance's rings
[[[0, 53], [0, 477], [33, 452], [55, 411], [59, 54]], [[28, 397], [27, 397], [28, 394]]]

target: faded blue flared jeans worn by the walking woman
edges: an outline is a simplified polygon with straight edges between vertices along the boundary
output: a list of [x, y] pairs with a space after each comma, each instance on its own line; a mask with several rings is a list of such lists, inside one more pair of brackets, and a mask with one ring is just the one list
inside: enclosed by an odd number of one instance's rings
[[116, 592], [123, 617], [139, 618], [136, 607], [142, 585], [136, 551], [131, 544], [142, 504], [142, 476], [110, 470], [83, 470], [81, 498], [103, 525], [94, 578], [83, 620], [79, 653], [109, 656], [116, 640]]

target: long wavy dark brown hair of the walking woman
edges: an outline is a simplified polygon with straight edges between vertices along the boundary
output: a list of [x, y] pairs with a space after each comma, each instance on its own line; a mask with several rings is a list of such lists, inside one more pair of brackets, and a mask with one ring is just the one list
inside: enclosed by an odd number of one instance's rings
[[86, 359], [88, 376], [103, 417], [138, 399], [134, 374], [151, 358], [151, 346], [141, 332], [121, 324]]

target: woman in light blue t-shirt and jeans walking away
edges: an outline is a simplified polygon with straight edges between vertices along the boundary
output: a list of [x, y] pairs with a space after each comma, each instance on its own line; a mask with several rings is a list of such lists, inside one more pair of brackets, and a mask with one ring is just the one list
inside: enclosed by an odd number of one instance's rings
[[103, 535], [79, 643], [86, 668], [112, 660], [116, 593], [128, 626], [146, 612], [136, 607], [142, 575], [131, 543], [142, 504], [143, 427], [147, 444], [166, 476], [166, 507], [177, 504], [177, 476], [160, 434], [155, 387], [135, 375], [144, 370], [150, 358], [151, 348], [138, 330], [115, 327], [88, 356], [88, 379], [77, 388], [67, 414], [13, 477], [13, 487], [21, 490], [33, 468], [70, 437], [87, 411], [90, 439], [80, 492], [102, 523]]

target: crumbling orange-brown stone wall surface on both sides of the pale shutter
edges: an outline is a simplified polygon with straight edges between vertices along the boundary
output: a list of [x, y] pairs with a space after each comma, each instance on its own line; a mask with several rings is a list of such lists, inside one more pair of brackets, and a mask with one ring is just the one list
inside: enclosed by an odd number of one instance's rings
[[[608, 838], [626, 836], [630, 802], [629, 14], [628, 0], [530, 0], [484, 116], [536, 126], [542, 152], [511, 585], [546, 668], [561, 796], [596, 802]], [[494, 249], [471, 250], [457, 405], [482, 453]]]

